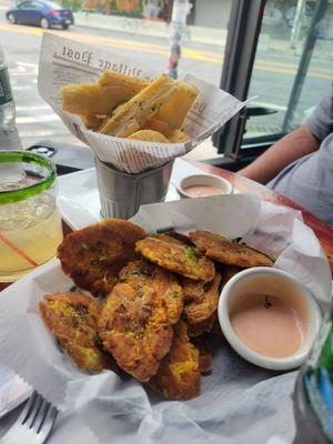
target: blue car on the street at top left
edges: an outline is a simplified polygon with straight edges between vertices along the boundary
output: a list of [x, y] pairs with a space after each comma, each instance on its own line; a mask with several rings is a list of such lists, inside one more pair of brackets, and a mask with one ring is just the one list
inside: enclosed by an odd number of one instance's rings
[[43, 29], [60, 26], [67, 29], [74, 23], [73, 13], [51, 1], [27, 0], [10, 8], [6, 13], [10, 23], [34, 24]]

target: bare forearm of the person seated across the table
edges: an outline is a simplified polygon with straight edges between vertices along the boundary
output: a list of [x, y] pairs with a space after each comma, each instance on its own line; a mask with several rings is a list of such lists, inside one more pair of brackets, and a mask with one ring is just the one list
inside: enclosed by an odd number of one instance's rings
[[238, 171], [238, 174], [266, 184], [291, 162], [316, 151], [319, 147], [319, 140], [306, 125], [302, 125], [275, 142], [253, 163]]

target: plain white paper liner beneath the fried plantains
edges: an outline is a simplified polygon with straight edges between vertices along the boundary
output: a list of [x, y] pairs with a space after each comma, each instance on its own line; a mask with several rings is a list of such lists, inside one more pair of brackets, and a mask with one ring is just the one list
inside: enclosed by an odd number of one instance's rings
[[[289, 239], [282, 252], [279, 242], [278, 251], [270, 245], [280, 254], [279, 268], [304, 281], [317, 300], [330, 299], [330, 268], [312, 230], [293, 211], [265, 205], [256, 195], [143, 205], [134, 221], [149, 231], [173, 226], [183, 232], [213, 230], [231, 238], [248, 233], [253, 246], [260, 245], [256, 229], [266, 221], [268, 231], [281, 228], [281, 235]], [[213, 370], [202, 377], [201, 395], [191, 401], [162, 400], [138, 381], [123, 381], [108, 370], [94, 375], [80, 372], [62, 353], [38, 309], [46, 294], [68, 291], [72, 285], [54, 261], [1, 292], [0, 357], [59, 408], [75, 412], [101, 444], [262, 444], [273, 435], [292, 442], [291, 394], [296, 372], [252, 365], [223, 340], [210, 342]], [[78, 422], [68, 428], [62, 425], [60, 421], [49, 444], [81, 443]]]

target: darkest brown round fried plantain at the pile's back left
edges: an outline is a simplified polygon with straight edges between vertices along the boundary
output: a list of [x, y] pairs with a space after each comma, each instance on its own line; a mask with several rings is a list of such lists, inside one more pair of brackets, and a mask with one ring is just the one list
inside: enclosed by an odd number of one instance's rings
[[62, 270], [93, 295], [107, 295], [119, 271], [134, 256], [144, 230], [122, 220], [104, 220], [69, 234], [58, 248]]

